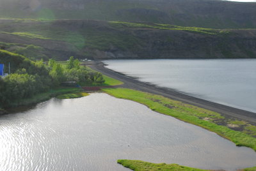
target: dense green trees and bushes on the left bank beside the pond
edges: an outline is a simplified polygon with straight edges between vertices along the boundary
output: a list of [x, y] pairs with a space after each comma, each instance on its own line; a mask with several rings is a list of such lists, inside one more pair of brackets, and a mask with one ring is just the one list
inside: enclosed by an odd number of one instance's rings
[[[0, 77], [0, 108], [12, 106], [13, 101], [31, 98], [33, 95], [59, 87], [61, 83], [74, 81], [102, 84], [104, 78], [101, 73], [80, 66], [79, 60], [70, 57], [66, 66], [50, 59], [44, 61], [30, 61], [17, 54], [0, 52], [0, 63], [6, 63], [4, 57], [9, 59], [12, 73], [4, 78]], [[17, 61], [17, 63], [15, 63]]]

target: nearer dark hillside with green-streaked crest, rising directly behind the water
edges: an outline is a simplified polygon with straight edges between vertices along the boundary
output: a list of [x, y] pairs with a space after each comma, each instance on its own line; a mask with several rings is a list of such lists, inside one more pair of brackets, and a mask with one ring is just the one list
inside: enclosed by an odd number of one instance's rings
[[2, 49], [10, 51], [33, 45], [42, 56], [55, 59], [256, 57], [255, 29], [146, 22], [0, 20], [0, 42]]

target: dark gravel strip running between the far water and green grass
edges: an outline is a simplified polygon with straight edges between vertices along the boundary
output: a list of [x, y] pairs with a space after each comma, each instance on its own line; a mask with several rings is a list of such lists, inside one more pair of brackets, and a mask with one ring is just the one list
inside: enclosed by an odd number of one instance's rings
[[108, 77], [112, 77], [124, 82], [123, 85], [119, 85], [118, 87], [125, 87], [129, 89], [145, 91], [148, 93], [159, 94], [166, 98], [179, 100], [184, 103], [188, 103], [191, 105], [195, 105], [197, 107], [202, 107], [208, 110], [212, 110], [214, 112], [218, 112], [220, 114], [225, 115], [226, 117], [235, 117], [237, 119], [243, 119], [244, 121], [248, 121], [253, 125], [256, 124], [256, 114], [253, 112], [248, 112], [246, 110], [241, 110], [239, 108], [228, 107], [226, 105], [221, 105], [211, 101], [202, 100], [200, 98], [195, 98], [193, 96], [182, 94], [172, 89], [167, 89], [164, 87], [158, 87], [156, 85], [148, 84], [145, 82], [140, 82], [135, 78], [127, 77], [122, 73], [117, 73], [115, 71], [109, 70], [108, 68], [105, 68], [104, 64], [101, 62], [91, 63], [91, 64], [88, 64], [88, 66], [90, 66], [90, 68], [92, 68], [93, 70], [100, 71], [101, 73], [103, 73], [104, 75], [107, 75]]

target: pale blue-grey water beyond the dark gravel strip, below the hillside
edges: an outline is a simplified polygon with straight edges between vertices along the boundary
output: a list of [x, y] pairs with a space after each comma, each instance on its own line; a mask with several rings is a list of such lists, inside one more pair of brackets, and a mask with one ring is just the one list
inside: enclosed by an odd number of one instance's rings
[[162, 87], [256, 112], [256, 59], [109, 60], [108, 68]]

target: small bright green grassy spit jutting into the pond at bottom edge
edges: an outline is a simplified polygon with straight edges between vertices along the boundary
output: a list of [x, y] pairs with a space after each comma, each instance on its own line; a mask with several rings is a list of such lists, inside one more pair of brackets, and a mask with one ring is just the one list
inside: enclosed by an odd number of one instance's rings
[[131, 170], [136, 171], [157, 171], [157, 170], [165, 170], [165, 171], [203, 171], [198, 168], [184, 167], [177, 164], [166, 164], [166, 163], [148, 163], [140, 160], [118, 160], [117, 163], [123, 165], [124, 167], [131, 168]]

